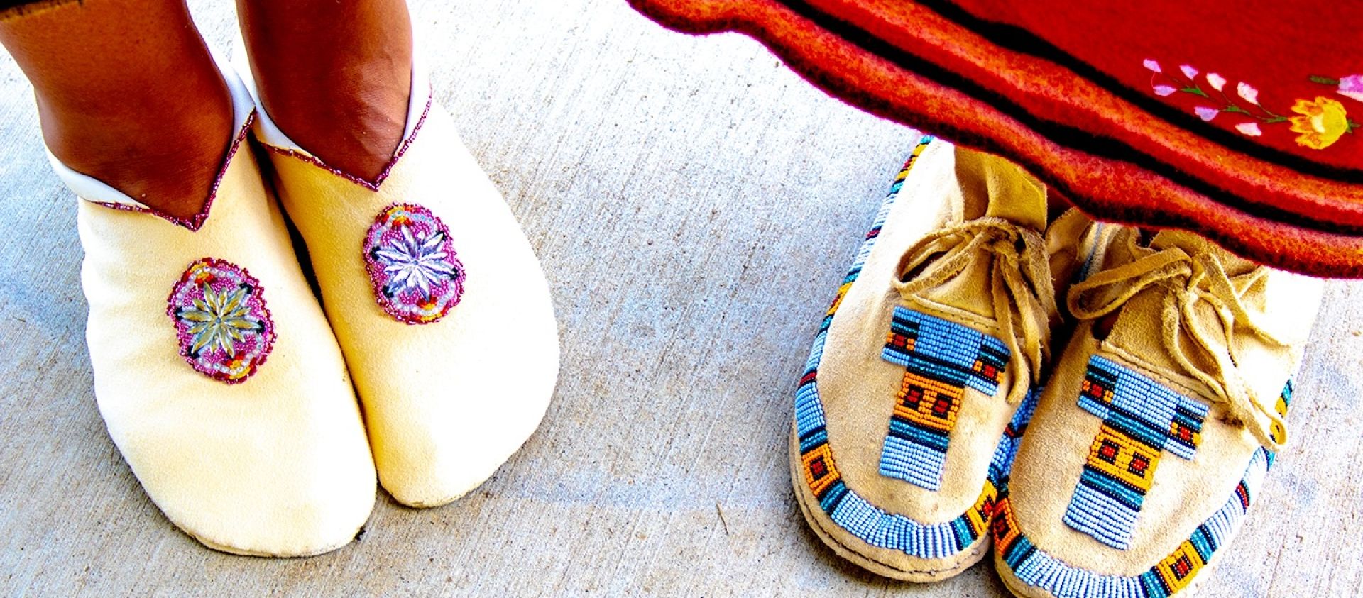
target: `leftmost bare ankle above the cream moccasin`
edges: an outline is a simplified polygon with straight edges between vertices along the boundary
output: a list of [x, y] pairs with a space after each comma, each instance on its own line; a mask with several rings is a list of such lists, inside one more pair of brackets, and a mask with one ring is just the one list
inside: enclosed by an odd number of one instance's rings
[[232, 95], [181, 0], [86, 0], [0, 22], [65, 166], [174, 217], [207, 200]]

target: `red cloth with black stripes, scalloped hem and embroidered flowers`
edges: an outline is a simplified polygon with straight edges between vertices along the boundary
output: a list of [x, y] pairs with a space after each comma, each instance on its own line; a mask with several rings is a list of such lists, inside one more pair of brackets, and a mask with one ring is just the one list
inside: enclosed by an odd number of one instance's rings
[[682, 31], [750, 34], [1094, 217], [1363, 278], [1363, 3], [630, 1]]

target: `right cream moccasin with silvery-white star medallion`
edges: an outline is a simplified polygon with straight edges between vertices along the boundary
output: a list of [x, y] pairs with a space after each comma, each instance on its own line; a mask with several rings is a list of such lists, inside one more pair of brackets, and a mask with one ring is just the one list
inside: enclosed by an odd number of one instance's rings
[[255, 133], [354, 376], [379, 481], [402, 504], [438, 507], [536, 430], [559, 335], [515, 217], [420, 65], [412, 80], [405, 140], [375, 180], [328, 166], [264, 109]]

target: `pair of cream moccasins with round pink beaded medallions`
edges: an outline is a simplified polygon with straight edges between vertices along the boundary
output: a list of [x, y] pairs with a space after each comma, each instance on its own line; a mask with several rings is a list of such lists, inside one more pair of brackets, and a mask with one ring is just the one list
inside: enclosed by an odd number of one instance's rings
[[198, 217], [53, 158], [82, 199], [95, 398], [176, 526], [225, 552], [316, 554], [356, 537], [376, 474], [412, 507], [492, 475], [548, 407], [557, 327], [529, 242], [420, 68], [405, 140], [368, 181], [290, 142], [221, 65], [239, 135]]

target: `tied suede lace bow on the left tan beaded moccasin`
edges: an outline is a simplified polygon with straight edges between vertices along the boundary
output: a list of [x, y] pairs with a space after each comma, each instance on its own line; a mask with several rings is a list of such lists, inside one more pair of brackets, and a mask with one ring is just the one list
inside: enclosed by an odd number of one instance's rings
[[[980, 259], [992, 259], [994, 317], [1017, 364], [1009, 403], [1018, 403], [1041, 380], [1050, 357], [1051, 321], [1059, 319], [1045, 244], [1040, 234], [1002, 218], [979, 218], [930, 233], [900, 262], [895, 286], [905, 298], [934, 289]], [[905, 274], [906, 272], [906, 274]]]

